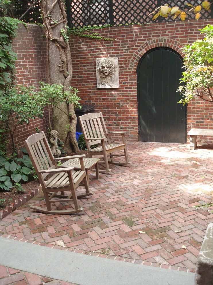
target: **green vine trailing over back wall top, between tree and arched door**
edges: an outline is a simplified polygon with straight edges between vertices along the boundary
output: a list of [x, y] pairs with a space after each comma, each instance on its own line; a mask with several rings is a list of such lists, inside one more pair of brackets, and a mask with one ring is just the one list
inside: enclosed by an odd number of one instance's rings
[[82, 28], [75, 28], [75, 27], [68, 28], [67, 27], [67, 33], [68, 35], [72, 34], [77, 37], [86, 37], [86, 38], [92, 38], [92, 39], [100, 39], [104, 41], [112, 41], [112, 39], [100, 36], [100, 34], [91, 31], [94, 29], [102, 29], [102, 28], [109, 28], [109, 27], [113, 27], [113, 26], [110, 24], [106, 24], [102, 26], [86, 26]]

